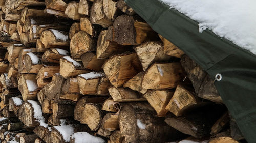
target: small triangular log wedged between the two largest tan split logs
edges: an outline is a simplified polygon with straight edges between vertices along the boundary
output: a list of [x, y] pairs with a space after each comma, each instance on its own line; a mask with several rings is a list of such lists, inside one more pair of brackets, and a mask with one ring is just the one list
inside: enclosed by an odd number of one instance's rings
[[126, 83], [124, 83], [123, 87], [124, 88], [130, 88], [130, 89], [132, 89], [134, 91], [137, 91], [137, 92], [140, 92], [142, 94], [146, 93], [147, 90], [142, 89], [142, 87], [141, 87], [141, 82], [142, 82], [143, 76], [144, 76], [144, 73], [139, 72], [133, 78], [128, 80]]

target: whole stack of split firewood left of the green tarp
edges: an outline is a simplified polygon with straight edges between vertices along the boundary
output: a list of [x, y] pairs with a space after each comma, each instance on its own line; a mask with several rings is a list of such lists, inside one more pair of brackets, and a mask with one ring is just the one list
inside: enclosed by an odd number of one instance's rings
[[123, 0], [0, 2], [2, 142], [243, 139], [214, 81]]

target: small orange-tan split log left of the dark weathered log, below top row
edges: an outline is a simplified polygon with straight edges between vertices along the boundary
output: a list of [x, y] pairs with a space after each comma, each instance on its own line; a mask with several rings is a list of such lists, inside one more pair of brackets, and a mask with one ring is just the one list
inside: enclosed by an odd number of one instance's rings
[[[80, 1], [81, 3], [81, 1]], [[98, 37], [100, 31], [102, 30], [102, 26], [92, 24], [88, 17], [80, 18], [80, 28], [82, 31], [91, 35], [92, 37]]]

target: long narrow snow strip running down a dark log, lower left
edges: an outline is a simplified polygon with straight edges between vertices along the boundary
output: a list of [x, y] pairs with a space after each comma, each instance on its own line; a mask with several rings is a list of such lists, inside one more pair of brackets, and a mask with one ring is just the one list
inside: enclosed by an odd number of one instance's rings
[[41, 106], [37, 104], [34, 100], [28, 100], [30, 104], [32, 104], [32, 107], [34, 109], [34, 118], [37, 122], [40, 123], [40, 126], [43, 126], [45, 128], [48, 127], [48, 124], [45, 123], [45, 118], [42, 116], [42, 109]]

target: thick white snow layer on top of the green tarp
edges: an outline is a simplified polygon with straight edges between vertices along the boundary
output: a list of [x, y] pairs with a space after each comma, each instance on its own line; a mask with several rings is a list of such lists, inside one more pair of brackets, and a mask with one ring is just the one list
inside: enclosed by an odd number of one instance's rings
[[160, 0], [199, 22], [199, 32], [212, 30], [256, 54], [256, 1]]

